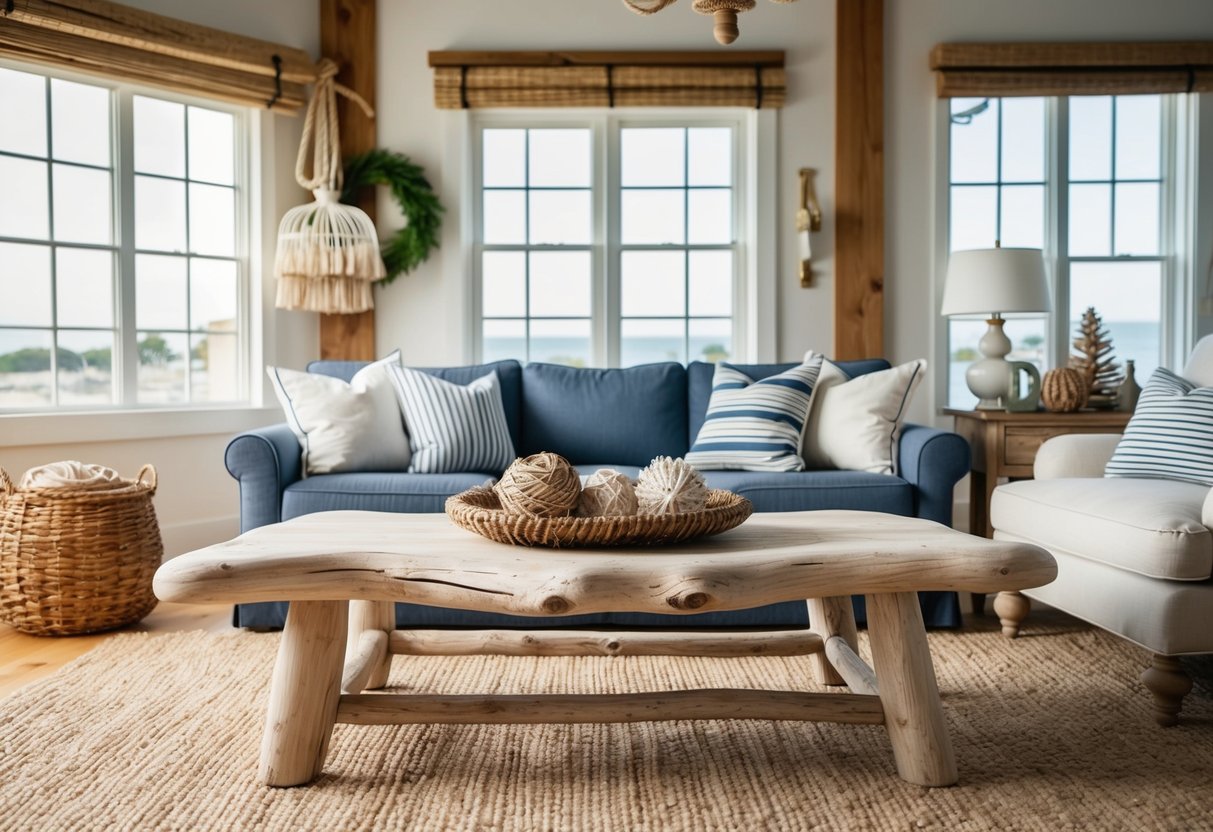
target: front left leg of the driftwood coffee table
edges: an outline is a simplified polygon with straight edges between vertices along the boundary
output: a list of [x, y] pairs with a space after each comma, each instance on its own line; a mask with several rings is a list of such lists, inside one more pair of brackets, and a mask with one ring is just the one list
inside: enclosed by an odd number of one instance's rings
[[341, 696], [347, 602], [295, 600], [269, 686], [258, 777], [267, 786], [298, 786], [324, 768]]

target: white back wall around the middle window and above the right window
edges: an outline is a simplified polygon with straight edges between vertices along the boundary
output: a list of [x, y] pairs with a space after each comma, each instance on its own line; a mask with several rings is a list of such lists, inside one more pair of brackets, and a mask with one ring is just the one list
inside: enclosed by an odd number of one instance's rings
[[[429, 50], [719, 49], [690, 4], [653, 17], [616, 0], [385, 0], [380, 2], [378, 143], [423, 165], [448, 206], [443, 247], [415, 273], [377, 294], [377, 347], [405, 361], [469, 357], [459, 337], [457, 286], [448, 258], [459, 257], [461, 165], [445, 153], [452, 119], [432, 104]], [[787, 53], [788, 102], [779, 114], [778, 358], [791, 360], [833, 344], [835, 2], [759, 4], [741, 16], [736, 49]], [[936, 358], [938, 300], [933, 278], [934, 132], [936, 98], [930, 47], [946, 40], [1200, 39], [1213, 36], [1209, 0], [887, 0], [885, 2], [885, 353], [893, 361]], [[456, 121], [457, 124], [457, 121]], [[791, 233], [797, 169], [816, 167], [825, 210], [815, 234], [815, 286], [801, 289]], [[397, 218], [385, 196], [381, 226]], [[457, 268], [455, 269], [457, 273]], [[933, 380], [911, 418], [936, 421]]]

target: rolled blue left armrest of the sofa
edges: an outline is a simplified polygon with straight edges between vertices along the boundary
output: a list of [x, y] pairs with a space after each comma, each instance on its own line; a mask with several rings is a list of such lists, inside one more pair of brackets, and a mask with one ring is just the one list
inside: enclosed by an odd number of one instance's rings
[[247, 431], [228, 443], [223, 463], [240, 483], [240, 531], [283, 519], [283, 491], [303, 475], [300, 441], [285, 423]]

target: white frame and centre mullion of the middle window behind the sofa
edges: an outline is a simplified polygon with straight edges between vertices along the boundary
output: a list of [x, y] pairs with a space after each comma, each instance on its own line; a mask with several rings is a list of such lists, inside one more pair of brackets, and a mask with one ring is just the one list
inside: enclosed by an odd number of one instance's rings
[[[754, 115], [758, 118], [754, 118]], [[762, 118], [768, 116], [768, 118]], [[586, 127], [591, 132], [592, 173], [591, 222], [593, 235], [587, 246], [591, 251], [591, 360], [590, 366], [617, 367], [620, 360], [620, 262], [621, 252], [631, 247], [660, 250], [661, 245], [625, 246], [620, 241], [621, 184], [619, 170], [620, 132], [626, 127], [729, 127], [733, 130], [733, 237], [731, 244], [702, 246], [705, 249], [729, 249], [734, 251], [733, 275], [733, 357], [734, 361], [761, 360], [771, 348], [762, 337], [757, 297], [767, 290], [759, 285], [754, 251], [761, 247], [765, 234], [763, 223], [768, 211], [763, 211], [756, 181], [761, 159], [759, 148], [768, 136], [774, 135], [774, 119], [768, 112], [756, 114], [744, 108], [569, 108], [560, 112], [471, 110], [466, 115], [466, 199], [463, 200], [465, 251], [467, 263], [466, 308], [468, 310], [465, 343], [472, 361], [483, 360], [483, 275], [482, 257], [484, 243], [480, 194], [483, 193], [482, 135], [488, 129], [569, 129]], [[756, 159], [756, 156], [758, 159]], [[613, 164], [614, 163], [614, 164]], [[684, 186], [685, 187], [685, 186]], [[773, 211], [770, 211], [773, 213]], [[765, 223], [769, 227], [769, 222]], [[771, 234], [773, 237], [773, 234]], [[545, 246], [517, 244], [505, 246], [526, 251], [543, 250]], [[690, 243], [671, 244], [671, 250], [694, 251], [700, 246]], [[774, 249], [771, 241], [770, 249]], [[773, 283], [773, 280], [771, 280]], [[774, 309], [770, 312], [774, 315]], [[684, 320], [694, 320], [689, 308]], [[770, 327], [767, 327], [770, 330]], [[614, 337], [613, 337], [614, 334]], [[771, 340], [773, 343], [773, 340]], [[519, 359], [525, 363], [525, 358]], [[688, 355], [688, 361], [696, 360]]]

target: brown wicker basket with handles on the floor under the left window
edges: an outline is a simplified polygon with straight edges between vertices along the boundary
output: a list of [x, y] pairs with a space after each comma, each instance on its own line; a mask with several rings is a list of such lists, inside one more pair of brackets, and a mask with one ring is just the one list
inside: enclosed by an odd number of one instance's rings
[[110, 489], [16, 489], [0, 468], [0, 621], [35, 636], [114, 629], [152, 611], [164, 555], [155, 468]]

